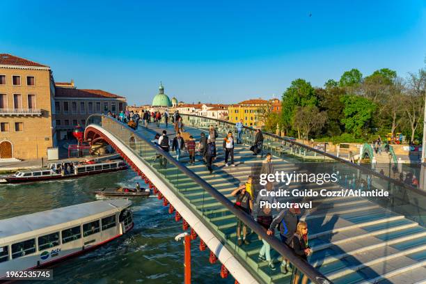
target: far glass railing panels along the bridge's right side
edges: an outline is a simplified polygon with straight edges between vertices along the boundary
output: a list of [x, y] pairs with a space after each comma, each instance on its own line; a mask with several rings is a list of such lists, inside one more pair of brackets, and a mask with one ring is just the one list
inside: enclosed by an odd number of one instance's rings
[[[184, 124], [203, 129], [206, 132], [214, 126], [219, 134], [225, 136], [228, 132], [237, 135], [235, 123], [229, 123], [214, 118], [205, 118], [194, 115], [181, 114]], [[397, 171], [388, 164], [384, 165], [388, 173], [373, 171], [366, 166], [354, 164], [345, 159], [336, 157], [329, 152], [315, 149], [290, 139], [275, 134], [262, 132], [264, 152], [271, 152], [276, 157], [297, 165], [299, 172], [310, 173], [336, 173], [338, 184], [342, 189], [361, 191], [386, 191], [387, 197], [366, 197], [386, 210], [406, 216], [416, 221], [420, 226], [426, 226], [426, 192], [411, 187], [409, 184], [395, 180]], [[255, 129], [244, 127], [242, 140], [249, 148], [255, 141]], [[395, 178], [392, 178], [395, 176]]]

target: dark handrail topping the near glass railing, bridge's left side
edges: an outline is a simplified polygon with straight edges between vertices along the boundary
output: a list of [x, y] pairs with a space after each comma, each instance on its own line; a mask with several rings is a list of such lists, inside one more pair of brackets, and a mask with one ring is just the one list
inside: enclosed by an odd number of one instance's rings
[[[120, 121], [114, 118], [111, 118], [110, 116], [107, 116], [104, 114], [93, 114], [87, 118], [86, 127], [90, 127], [90, 124], [91, 124], [90, 121], [93, 120], [93, 118], [95, 117], [107, 118], [107, 119], [113, 120], [115, 123], [120, 123]], [[93, 123], [93, 124], [102, 126], [102, 120], [100, 120], [99, 124], [96, 124], [96, 123]], [[141, 136], [134, 129], [128, 127], [127, 125], [123, 123], [120, 123], [120, 125], [122, 127], [126, 127], [127, 130], [129, 130], [130, 132], [133, 132], [135, 136], [137, 136], [139, 139], [144, 141], [146, 145], [152, 148], [152, 150], [155, 150], [156, 152], [159, 153], [159, 155], [162, 155], [163, 157], [165, 157], [168, 162], [173, 164], [173, 166], [178, 168], [180, 171], [182, 171], [182, 173], [184, 173], [189, 178], [191, 178], [191, 180], [196, 182], [196, 184], [198, 184], [205, 191], [207, 191], [207, 193], [209, 193], [212, 197], [214, 197], [217, 201], [219, 201], [219, 203], [225, 206], [227, 210], [232, 212], [232, 214], [235, 214], [235, 216], [238, 219], [242, 220], [242, 222], [246, 224], [248, 228], [251, 228], [254, 232], [258, 234], [258, 236], [262, 237], [262, 239], [267, 240], [271, 248], [274, 248], [275, 251], [277, 251], [280, 255], [283, 255], [285, 259], [289, 260], [292, 263], [292, 265], [294, 265], [294, 267], [297, 267], [299, 271], [305, 274], [310, 279], [310, 281], [317, 284], [332, 283], [328, 278], [326, 278], [326, 276], [324, 276], [319, 271], [317, 271], [317, 269], [315, 269], [312, 265], [310, 265], [308, 262], [301, 259], [298, 255], [296, 255], [291, 248], [287, 246], [283, 246], [283, 243], [281, 242], [281, 240], [278, 240], [274, 236], [267, 235], [267, 232], [265, 232], [263, 227], [260, 226], [259, 223], [254, 221], [249, 214], [246, 214], [242, 210], [237, 209], [237, 207], [234, 206], [234, 203], [232, 203], [228, 198], [226, 198], [226, 196], [223, 196], [223, 194], [221, 194], [219, 191], [214, 189], [214, 187], [212, 187], [210, 184], [205, 182], [205, 180], [200, 178], [200, 176], [196, 175], [194, 172], [189, 170], [189, 168], [187, 168], [186, 166], [183, 166], [178, 161], [176, 161], [168, 152], [165, 152], [161, 148], [157, 147], [151, 141], [148, 141], [148, 139], [145, 139], [145, 137]], [[189, 210], [194, 212], [194, 209], [192, 207], [189, 207]], [[220, 239], [223, 239], [223, 237], [220, 237]]]

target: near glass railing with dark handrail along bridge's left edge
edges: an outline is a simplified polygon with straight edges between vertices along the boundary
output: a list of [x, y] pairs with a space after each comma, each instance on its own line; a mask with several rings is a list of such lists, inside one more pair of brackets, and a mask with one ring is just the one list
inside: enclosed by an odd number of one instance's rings
[[[228, 250], [244, 263], [244, 267], [252, 272], [252, 275], [260, 283], [292, 283], [296, 275], [306, 275], [312, 283], [327, 283], [328, 279], [314, 269], [308, 262], [302, 260], [287, 246], [283, 246], [281, 240], [267, 235], [266, 231], [255, 222], [250, 215], [239, 210], [230, 200], [180, 164], [167, 152], [161, 150], [152, 141], [108, 116], [92, 115], [87, 120], [87, 125], [100, 125], [113, 136], [127, 145], [132, 152], [141, 158], [143, 163], [151, 168], [166, 184], [170, 186], [176, 196], [182, 200], [189, 209], [198, 216], [207, 228], [221, 240]], [[224, 127], [226, 125], [223, 125]], [[250, 132], [245, 139], [250, 139]], [[258, 260], [258, 252], [262, 242], [258, 237], [252, 238], [248, 246], [239, 246], [235, 235], [237, 220], [242, 220], [248, 226], [248, 230], [255, 232], [262, 239], [266, 239], [276, 254], [276, 270], [271, 270], [267, 262]], [[277, 260], [282, 260], [280, 255], [290, 261], [292, 273], [282, 274]], [[296, 271], [299, 271], [296, 274]], [[331, 283], [329, 281], [328, 283]]]

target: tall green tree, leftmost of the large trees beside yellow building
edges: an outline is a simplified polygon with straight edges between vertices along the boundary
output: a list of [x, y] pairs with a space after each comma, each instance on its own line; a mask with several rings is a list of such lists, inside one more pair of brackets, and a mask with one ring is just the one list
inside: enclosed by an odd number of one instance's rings
[[310, 83], [304, 79], [292, 81], [291, 86], [283, 93], [283, 110], [281, 111], [283, 127], [287, 130], [291, 127], [295, 107], [316, 105], [317, 97]]

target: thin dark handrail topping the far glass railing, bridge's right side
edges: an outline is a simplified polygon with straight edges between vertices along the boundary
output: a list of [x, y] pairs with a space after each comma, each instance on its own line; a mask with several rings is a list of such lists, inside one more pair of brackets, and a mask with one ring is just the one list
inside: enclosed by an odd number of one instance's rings
[[[180, 116], [188, 116], [188, 117], [194, 117], [194, 118], [202, 118], [202, 119], [214, 120], [214, 121], [217, 121], [219, 123], [226, 123], [228, 125], [233, 125], [235, 127], [235, 123], [230, 123], [230, 122], [228, 122], [226, 120], [220, 120], [220, 119], [216, 119], [216, 118], [206, 118], [204, 116], [196, 116], [194, 114], [185, 114], [185, 113], [179, 113], [179, 115]], [[245, 125], [243, 127], [244, 127], [244, 129], [248, 129], [249, 131], [255, 131], [255, 129], [253, 129], [253, 127], [247, 127]], [[413, 191], [416, 194], [420, 194], [421, 196], [425, 196], [426, 197], [426, 191], [417, 189], [416, 187], [411, 187], [411, 185], [406, 184], [404, 182], [401, 182], [400, 180], [395, 180], [393, 178], [389, 178], [386, 175], [383, 175], [381, 173], [377, 173], [377, 171], [373, 171], [372, 169], [366, 168], [365, 166], [354, 164], [354, 163], [352, 163], [350, 161], [347, 161], [345, 159], [337, 157], [336, 155], [330, 154], [328, 152], [324, 152], [324, 151], [319, 150], [319, 149], [315, 149], [313, 147], [310, 147], [309, 145], [305, 145], [305, 144], [299, 143], [297, 141], [293, 141], [292, 139], [288, 139], [287, 137], [281, 137], [281, 136], [278, 136], [276, 134], [272, 134], [272, 133], [269, 133], [269, 132], [263, 132], [263, 131], [262, 131], [262, 134], [265, 135], [265, 136], [270, 136], [270, 137], [272, 137], [274, 139], [279, 139], [281, 141], [285, 141], [287, 143], [291, 143], [292, 145], [297, 145], [297, 146], [299, 146], [299, 147], [301, 147], [301, 148], [303, 148], [305, 150], [316, 152], [316, 153], [318, 153], [320, 155], [323, 155], [324, 157], [329, 157], [329, 158], [333, 159], [334, 161], [338, 161], [338, 162], [340, 162], [342, 164], [345, 164], [347, 166], [350, 166], [350, 167], [352, 167], [352, 168], [354, 168], [356, 170], [360, 170], [360, 171], [362, 171], [365, 174], [374, 175], [375, 177], [383, 179], [383, 180], [386, 180], [387, 182], [395, 184], [398, 187], [404, 187], [404, 189], [408, 189], [409, 191]]]

